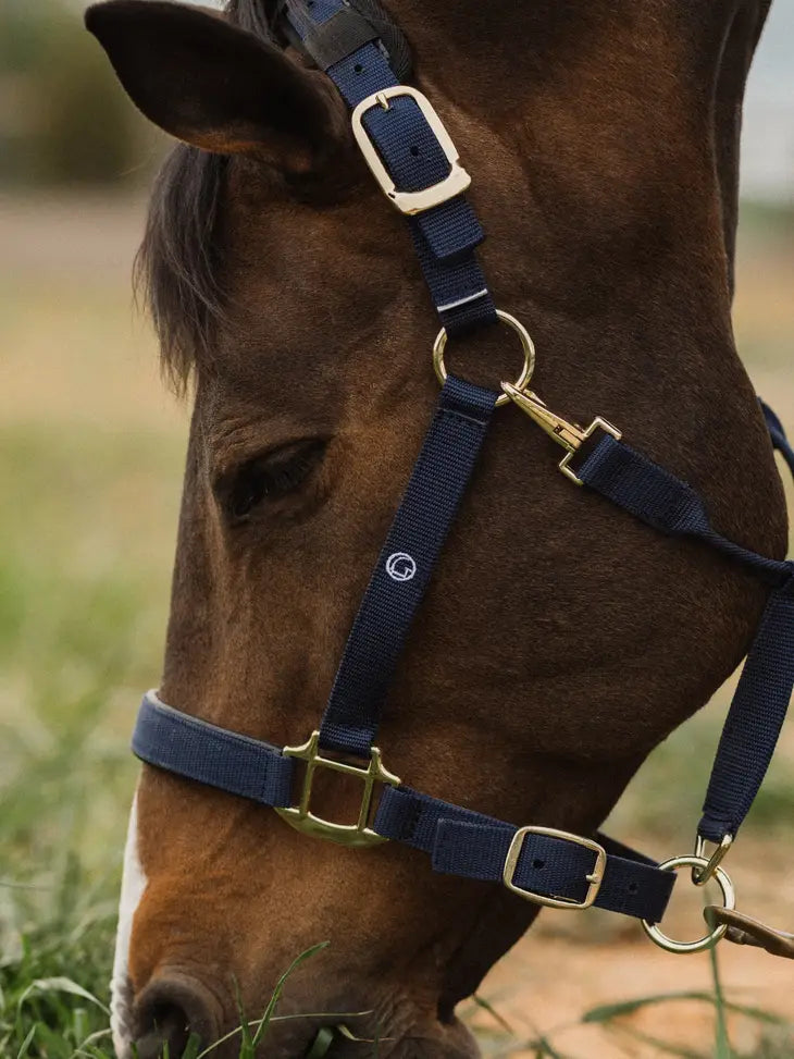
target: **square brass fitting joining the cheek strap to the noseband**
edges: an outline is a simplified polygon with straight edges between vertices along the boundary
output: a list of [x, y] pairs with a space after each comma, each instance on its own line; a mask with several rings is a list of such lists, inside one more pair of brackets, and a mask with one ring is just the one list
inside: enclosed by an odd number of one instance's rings
[[[380, 842], [388, 841], [387, 838], [379, 835], [369, 826], [372, 798], [375, 791], [375, 784], [387, 784], [389, 787], [398, 787], [400, 779], [384, 768], [381, 761], [381, 751], [377, 747], [372, 748], [370, 763], [367, 767], [350, 765], [345, 761], [336, 761], [333, 758], [324, 758], [320, 752], [319, 731], [313, 731], [309, 741], [305, 742], [301, 747], [285, 747], [282, 753], [285, 758], [297, 758], [299, 761], [307, 763], [300, 801], [297, 805], [288, 809], [276, 809], [278, 815], [290, 827], [312, 838], [324, 838], [330, 842], [337, 842], [339, 846], [347, 846], [352, 849], [377, 846]], [[346, 776], [356, 776], [363, 783], [364, 789], [361, 796], [361, 808], [359, 809], [358, 821], [355, 824], [335, 824], [331, 820], [323, 820], [321, 816], [315, 816], [312, 813], [311, 792], [318, 768], [328, 768], [331, 772], [340, 772]]]

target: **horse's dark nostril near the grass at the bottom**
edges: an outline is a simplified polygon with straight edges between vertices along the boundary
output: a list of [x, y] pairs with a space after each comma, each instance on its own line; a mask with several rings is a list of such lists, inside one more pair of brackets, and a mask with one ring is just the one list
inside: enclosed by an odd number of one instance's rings
[[190, 1035], [204, 1046], [218, 1036], [218, 1019], [211, 994], [198, 982], [182, 975], [158, 978], [144, 989], [136, 1005], [138, 1059], [179, 1059]]

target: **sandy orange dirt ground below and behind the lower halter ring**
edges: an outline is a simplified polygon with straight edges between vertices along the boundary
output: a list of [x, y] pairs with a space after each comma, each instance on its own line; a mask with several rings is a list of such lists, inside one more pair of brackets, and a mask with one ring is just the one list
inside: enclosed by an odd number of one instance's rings
[[[642, 848], [641, 839], [636, 839]], [[766, 847], [737, 845], [731, 874], [739, 892], [737, 906], [780, 929], [794, 929], [794, 877], [789, 854], [782, 848], [770, 854]], [[762, 871], [758, 870], [758, 864]], [[679, 938], [703, 934], [699, 892], [684, 885], [678, 889], [667, 933]], [[794, 1017], [794, 962], [728, 941], [718, 948], [720, 977], [729, 1002], [789, 1021]], [[568, 1059], [656, 1059], [668, 1054], [661, 1045], [709, 1055], [715, 1039], [714, 1008], [707, 1002], [680, 1000], [648, 1006], [611, 1021], [609, 1026], [584, 1024], [585, 1012], [601, 1005], [677, 993], [714, 992], [708, 953], [673, 956], [653, 945], [638, 924], [616, 922], [606, 913], [544, 912], [531, 931], [488, 975], [481, 989], [514, 1031], [519, 1039], [543, 1034]], [[486, 1012], [477, 1025], [496, 1027]], [[729, 1019], [731, 1043], [739, 1055], [757, 1048], [769, 1024], [742, 1014]], [[654, 1038], [642, 1042], [636, 1034]], [[783, 1036], [794, 1056], [794, 1036]], [[532, 1051], [510, 1051], [534, 1056]]]

